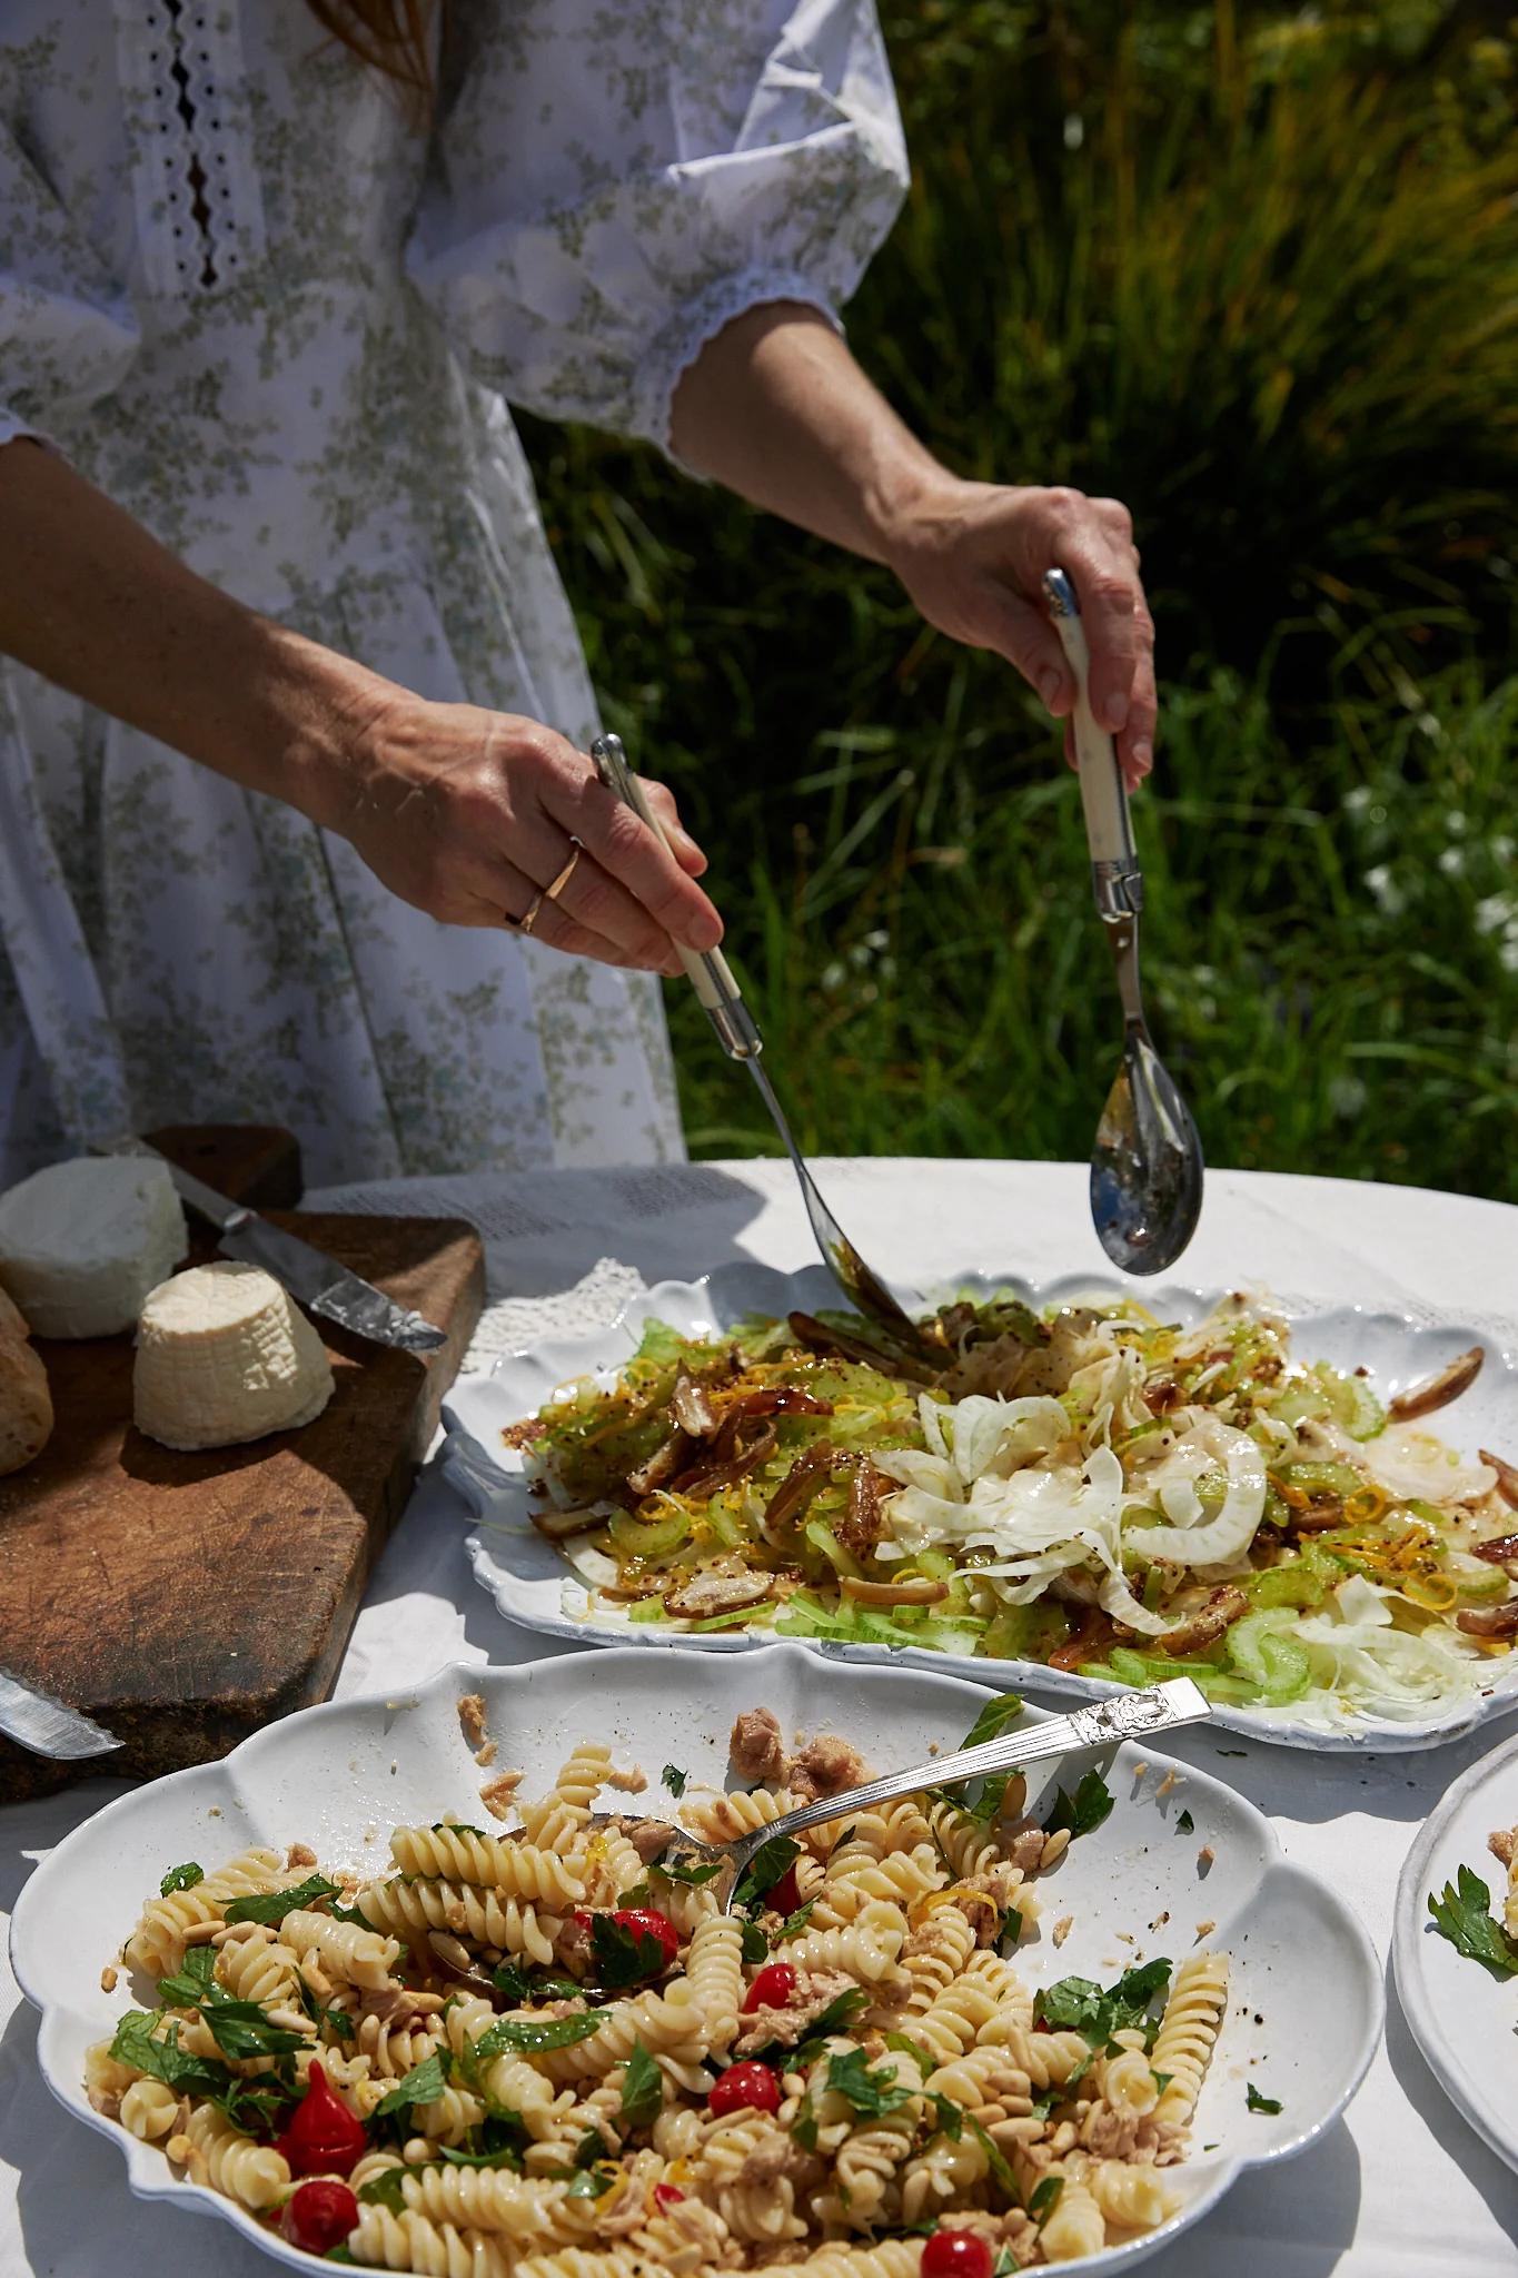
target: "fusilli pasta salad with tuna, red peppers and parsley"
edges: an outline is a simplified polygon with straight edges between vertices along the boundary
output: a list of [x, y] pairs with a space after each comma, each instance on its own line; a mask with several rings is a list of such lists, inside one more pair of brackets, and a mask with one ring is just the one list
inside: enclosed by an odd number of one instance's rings
[[[787, 1759], [767, 1711], [756, 1752], [687, 1829], [860, 1772], [826, 1736]], [[91, 2103], [316, 2255], [444, 2278], [1004, 2278], [1177, 2212], [1227, 1955], [1038, 1993], [1013, 1959], [1099, 1811], [1038, 1827], [1017, 1775], [910, 1797], [765, 1843], [721, 1914], [667, 1822], [594, 1813], [637, 1777], [580, 1743], [519, 1829], [398, 1827], [371, 1879], [173, 1868]]]

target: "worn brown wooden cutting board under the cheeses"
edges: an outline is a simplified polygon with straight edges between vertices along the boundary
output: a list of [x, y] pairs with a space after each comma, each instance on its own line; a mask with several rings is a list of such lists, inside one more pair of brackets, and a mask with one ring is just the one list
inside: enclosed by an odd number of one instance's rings
[[[193, 1456], [134, 1428], [130, 1335], [36, 1339], [57, 1424], [36, 1462], [0, 1478], [0, 1667], [125, 1747], [64, 1765], [0, 1736], [0, 1802], [96, 1772], [152, 1779], [205, 1763], [325, 1699], [485, 1301], [480, 1237], [462, 1219], [273, 1207], [300, 1196], [289, 1132], [150, 1139], [446, 1328], [448, 1344], [423, 1362], [316, 1321], [337, 1378], [323, 1415]], [[189, 1226], [191, 1260], [212, 1257], [214, 1237]]]

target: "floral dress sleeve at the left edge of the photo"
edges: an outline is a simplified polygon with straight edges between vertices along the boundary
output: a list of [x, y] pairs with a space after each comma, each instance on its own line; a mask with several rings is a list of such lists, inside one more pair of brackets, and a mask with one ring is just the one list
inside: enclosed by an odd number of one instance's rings
[[107, 394], [137, 321], [11, 130], [0, 123], [0, 444]]

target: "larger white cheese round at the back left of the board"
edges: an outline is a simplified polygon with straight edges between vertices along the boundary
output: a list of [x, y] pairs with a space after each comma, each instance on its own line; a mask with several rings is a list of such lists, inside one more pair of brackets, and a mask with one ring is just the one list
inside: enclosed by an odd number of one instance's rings
[[0, 1283], [34, 1337], [114, 1337], [189, 1248], [168, 1164], [55, 1162], [0, 1196]]

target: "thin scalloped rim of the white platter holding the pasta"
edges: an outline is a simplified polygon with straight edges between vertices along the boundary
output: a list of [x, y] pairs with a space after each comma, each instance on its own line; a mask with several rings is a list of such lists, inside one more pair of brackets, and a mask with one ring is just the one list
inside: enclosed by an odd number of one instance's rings
[[[610, 1647], [610, 1652], [621, 1652], [635, 1667], [646, 1667], [644, 1656], [635, 1645]], [[812, 1672], [817, 1665], [817, 1656], [812, 1656], [806, 1649], [806, 1642], [799, 1638], [769, 1640], [762, 1647], [762, 1652], [767, 1652], [772, 1661], [778, 1658], [790, 1663], [803, 1663]], [[544, 1656], [544, 1658], [560, 1658], [560, 1656]], [[696, 1656], [690, 1654], [690, 1658], [694, 1661]], [[196, 2185], [175, 2178], [168, 2164], [164, 2162], [162, 2153], [157, 2150], [157, 2146], [139, 2141], [116, 2121], [109, 2121], [102, 2112], [96, 2112], [96, 2107], [89, 2103], [84, 2093], [82, 2082], [64, 2080], [57, 2066], [52, 2064], [52, 2052], [48, 2046], [50, 2025], [55, 2018], [61, 2021], [66, 2011], [61, 2011], [57, 2002], [48, 2000], [41, 1991], [36, 1991], [34, 1982], [30, 1980], [27, 1945], [32, 1943], [32, 1918], [34, 1916], [39, 1916], [39, 1920], [46, 1918], [50, 1888], [55, 1886], [55, 1882], [64, 1879], [71, 1873], [71, 1850], [75, 1845], [82, 1847], [82, 1838], [86, 1836], [86, 1832], [93, 1841], [98, 1841], [102, 1825], [109, 1825], [121, 1816], [130, 1818], [132, 1813], [141, 1813], [146, 1809], [146, 1800], [164, 1793], [166, 1788], [184, 1791], [200, 1786], [207, 1793], [207, 1802], [216, 1802], [218, 1797], [237, 1797], [239, 1761], [246, 1763], [253, 1754], [280, 1750], [282, 1745], [287, 1745], [291, 1727], [312, 1729], [319, 1727], [321, 1722], [350, 1718], [353, 1713], [369, 1713], [382, 1718], [387, 1713], [394, 1713], [398, 1702], [403, 1702], [405, 1706], [416, 1706], [423, 1699], [432, 1697], [446, 1699], [451, 1693], [453, 1697], [457, 1697], [460, 1690], [478, 1690], [485, 1677], [503, 1683], [508, 1693], [517, 1690], [526, 1693], [533, 1686], [533, 1672], [542, 1670], [542, 1665], [544, 1665], [542, 1661], [510, 1663], [510, 1665], [448, 1661], [444, 1663], [444, 1667], [435, 1670], [428, 1679], [414, 1686], [391, 1688], [389, 1693], [380, 1690], [380, 1693], [348, 1695], [344, 1699], [316, 1702], [310, 1708], [294, 1711], [294, 1715], [278, 1718], [275, 1722], [264, 1724], [259, 1731], [250, 1734], [228, 1756], [212, 1759], [209, 1763], [184, 1765], [178, 1772], [166, 1772], [159, 1779], [143, 1781], [141, 1786], [130, 1788], [125, 1795], [112, 1797], [112, 1802], [102, 1804], [100, 1811], [91, 1813], [86, 1820], [73, 1827], [64, 1836], [64, 1841], [55, 1845], [55, 1850], [50, 1850], [48, 1857], [36, 1863], [32, 1875], [27, 1875], [20, 1895], [16, 1900], [16, 1907], [11, 1911], [7, 1943], [16, 1984], [27, 2005], [39, 2014], [36, 2064], [50, 2096], [75, 2119], [84, 2121], [98, 2134], [107, 2137], [118, 2146], [127, 2171], [127, 2189], [132, 2191], [134, 2198], [164, 2201], [168, 2205], [184, 2207], [191, 2214], [218, 2216], [221, 2221], [228, 2221], [246, 2239], [250, 2239], [255, 2246], [259, 2246], [266, 2255], [271, 2255], [271, 2260], [284, 2264], [287, 2269], [319, 2267], [319, 2257], [307, 2255], [303, 2248], [289, 2244], [278, 2232], [269, 2230], [264, 2223], [255, 2219], [255, 2214], [248, 2207], [241, 2207], [237, 2201], [228, 2198], [221, 2191], [212, 2191], [207, 2185]], [[614, 1677], [617, 1672], [612, 1670], [610, 1674]], [[970, 1697], [981, 1697], [988, 1690], [992, 1690], [983, 1683], [976, 1683], [974, 1679], [956, 1677], [947, 1670], [922, 1670], [917, 1674], [929, 1677], [940, 1686], [951, 1686], [956, 1693]], [[890, 1681], [888, 1667], [867, 1672], [869, 1686], [874, 1683], [885, 1686], [888, 1681]], [[1049, 1718], [1056, 1713], [1049, 1708], [1040, 1708], [1036, 1702], [1026, 1699], [1024, 1699], [1024, 1711], [1036, 1724], [1049, 1722]], [[1120, 1740], [1113, 1747], [1113, 1761], [1117, 1761], [1124, 1752], [1129, 1756], [1138, 1756], [1140, 1740]], [[1354, 1911], [1354, 1907], [1350, 1907], [1350, 1902], [1340, 1898], [1340, 1893], [1325, 1877], [1315, 1875], [1311, 1868], [1286, 1857], [1274, 1822], [1265, 1811], [1261, 1811], [1261, 1806], [1249, 1795], [1243, 1793], [1243, 1788], [1236, 1788], [1231, 1781], [1220, 1779], [1218, 1772], [1202, 1770], [1199, 1765], [1186, 1763], [1181, 1759], [1170, 1759], [1163, 1750], [1154, 1750], [1147, 1743], [1142, 1745], [1142, 1756], [1154, 1768], [1174, 1765], [1188, 1781], [1202, 1781], [1204, 1786], [1222, 1791], [1229, 1797], [1229, 1802], [1243, 1811], [1245, 1820], [1254, 1827], [1261, 1841], [1261, 1875], [1254, 1886], [1256, 1893], [1263, 1893], [1268, 1882], [1272, 1879], [1288, 1879], [1311, 1888], [1318, 1902], [1329, 1909], [1329, 1914], [1338, 1920], [1340, 1932], [1347, 1936], [1350, 1948], [1354, 1948], [1356, 1952], [1363, 1980], [1363, 1993], [1368, 1996], [1366, 2000], [1368, 2023], [1361, 2048], [1345, 2080], [1343, 2093], [1331, 2103], [1327, 2112], [1318, 2114], [1315, 2121], [1311, 2121], [1304, 2130], [1300, 2130], [1297, 2134], [1288, 2137], [1281, 2144], [1265, 2144], [1261, 2146], [1259, 2153], [1238, 2150], [1231, 2157], [1224, 2157], [1213, 2169], [1208, 2182], [1202, 2185], [1193, 2194], [1193, 2198], [1181, 2210], [1177, 2210], [1174, 2216], [1170, 2216], [1170, 2221], [1161, 2223], [1152, 2232], [1140, 2232], [1133, 2239], [1124, 2239], [1117, 2246], [1104, 2248], [1102, 2260], [1092, 2257], [1092, 2262], [1086, 2264], [1097, 2271], [1115, 2271], [1120, 2267], [1129, 2267], [1131, 2262], [1142, 2260], [1147, 2253], [1161, 2251], [1181, 2232], [1193, 2230], [1206, 2214], [1211, 2214], [1211, 2210], [1227, 2196], [1227, 2191], [1247, 2169], [1272, 2166], [1281, 2160], [1295, 2160], [1300, 2153], [1309, 2150], [1311, 2144], [1315, 2144], [1329, 2128], [1334, 2128], [1343, 2119], [1345, 2109], [1359, 2093], [1366, 2073], [1375, 2059], [1375, 2052], [1381, 2046], [1386, 2027], [1381, 1964], [1375, 1943], [1366, 1925], [1361, 1923], [1359, 1914]], [[89, 1980], [84, 1977], [82, 1991], [86, 1984]]]

